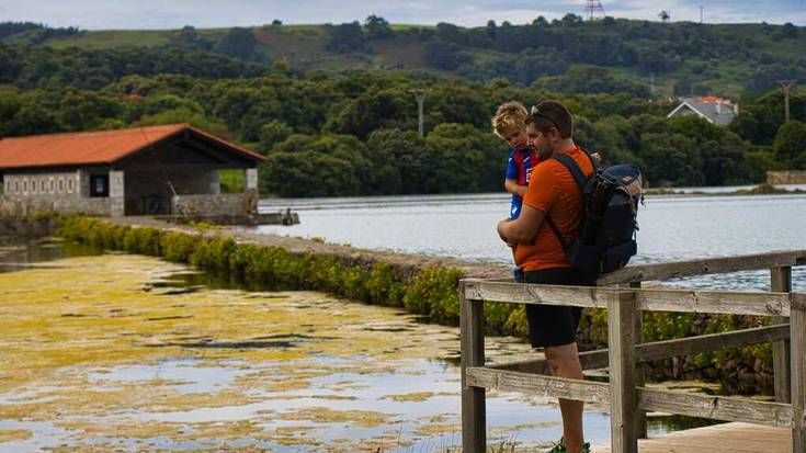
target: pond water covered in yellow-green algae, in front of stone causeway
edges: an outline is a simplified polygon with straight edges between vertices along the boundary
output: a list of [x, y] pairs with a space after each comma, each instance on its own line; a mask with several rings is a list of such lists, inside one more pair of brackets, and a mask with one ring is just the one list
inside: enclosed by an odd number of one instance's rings
[[[189, 268], [148, 257], [0, 252], [14, 263], [0, 273], [0, 452], [459, 443], [456, 328], [321, 293], [189, 285]], [[534, 356], [511, 338], [486, 347], [493, 362]], [[554, 400], [489, 396], [491, 442], [559, 438]], [[589, 407], [586, 430], [608, 442], [604, 408]]]

